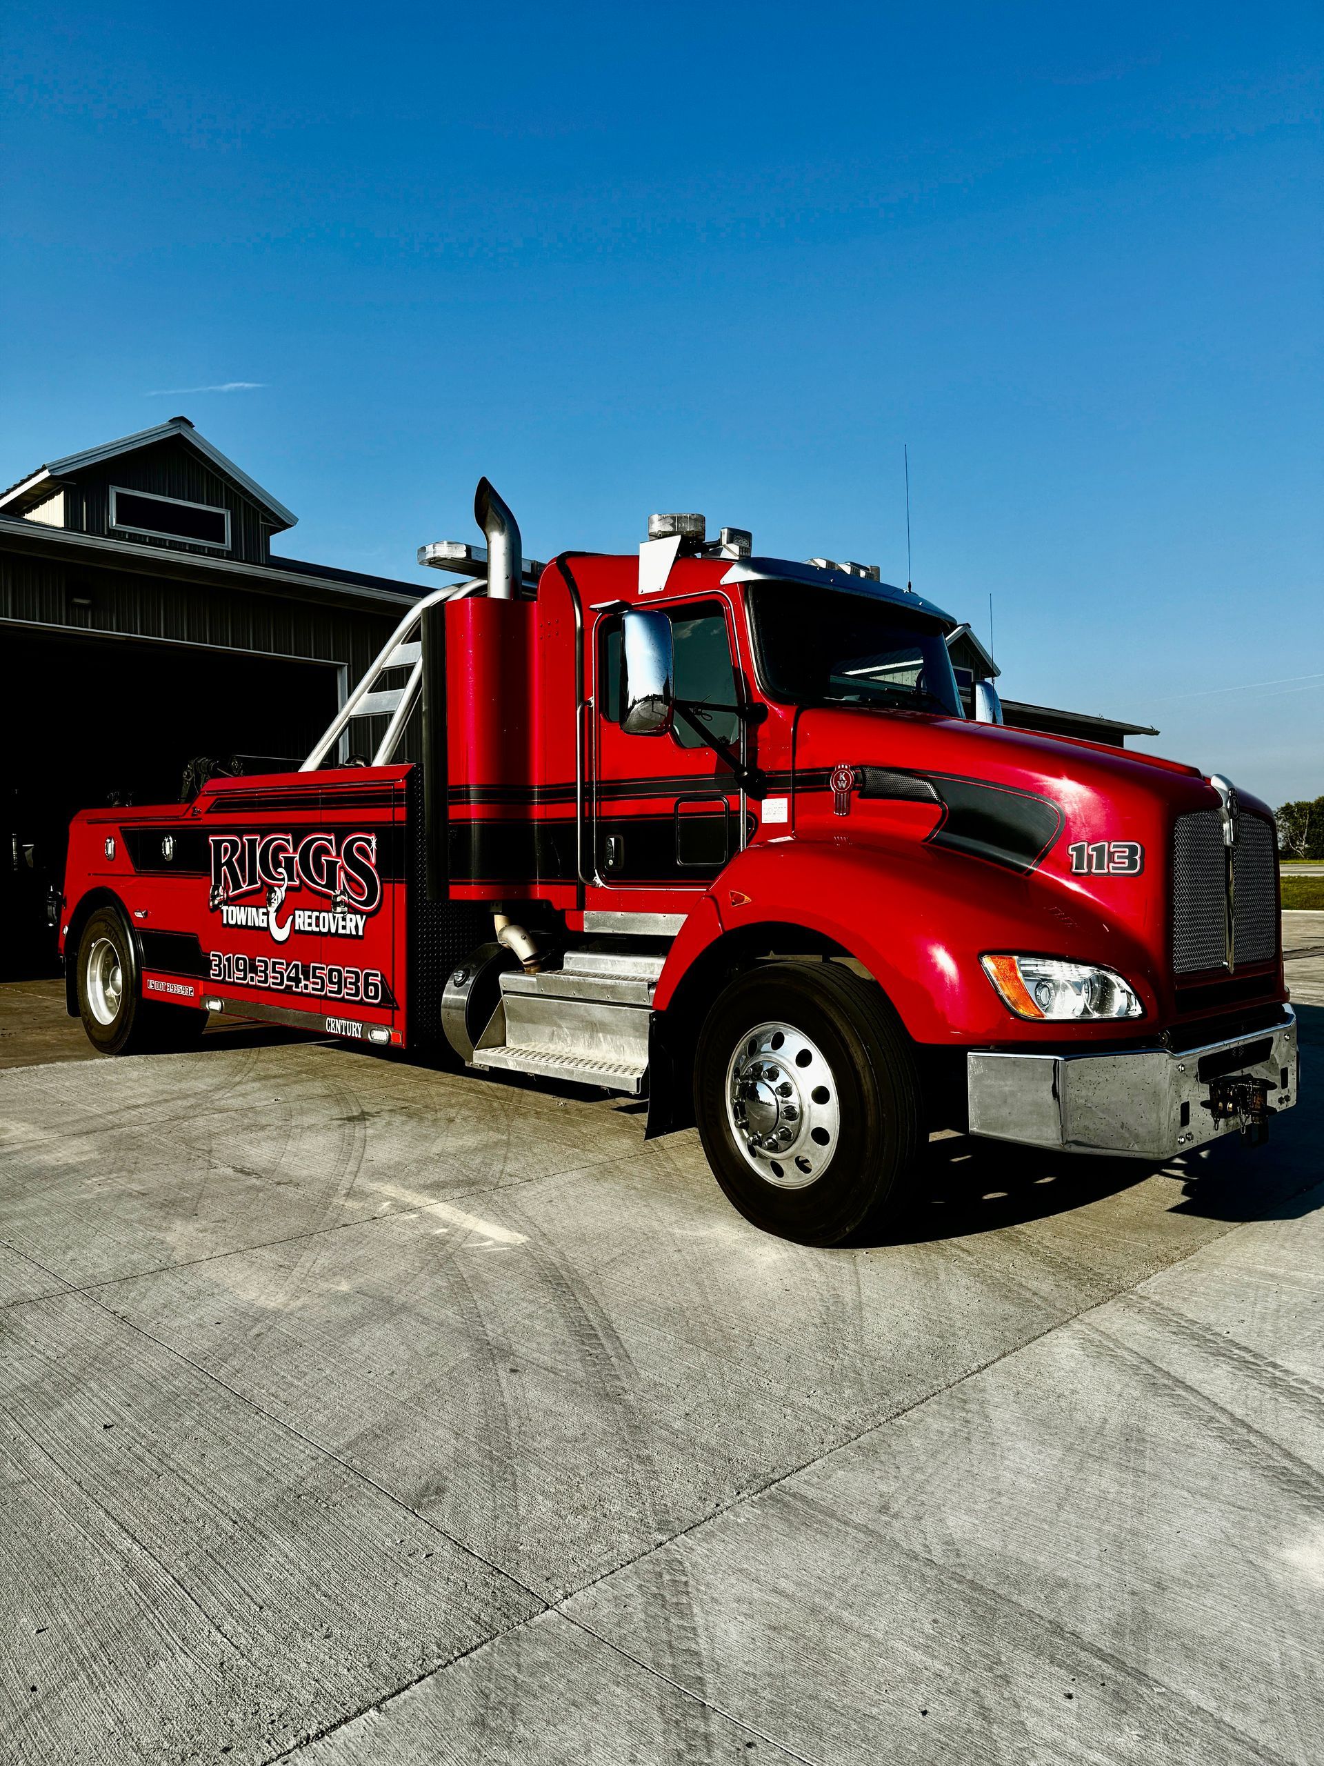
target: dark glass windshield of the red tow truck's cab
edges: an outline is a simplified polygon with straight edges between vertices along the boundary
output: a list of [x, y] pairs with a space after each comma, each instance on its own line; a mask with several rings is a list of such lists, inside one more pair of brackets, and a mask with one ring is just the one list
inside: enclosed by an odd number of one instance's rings
[[943, 632], [925, 615], [803, 583], [752, 583], [749, 606], [775, 699], [962, 717]]

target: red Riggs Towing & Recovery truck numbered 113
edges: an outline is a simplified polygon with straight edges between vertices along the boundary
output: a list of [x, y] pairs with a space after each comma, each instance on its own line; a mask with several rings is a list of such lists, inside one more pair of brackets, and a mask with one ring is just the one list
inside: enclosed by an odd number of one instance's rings
[[475, 514], [300, 772], [74, 819], [99, 1049], [229, 1012], [646, 1095], [817, 1245], [939, 1127], [1163, 1160], [1296, 1102], [1264, 804], [969, 719], [964, 627], [877, 570], [697, 516], [535, 567], [487, 480]]

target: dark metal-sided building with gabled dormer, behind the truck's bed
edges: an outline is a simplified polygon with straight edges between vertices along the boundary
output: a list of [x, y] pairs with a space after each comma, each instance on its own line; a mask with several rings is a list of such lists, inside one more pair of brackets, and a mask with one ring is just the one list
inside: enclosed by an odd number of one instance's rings
[[293, 525], [187, 417], [0, 493], [0, 971], [46, 955], [76, 809], [297, 766], [422, 593], [272, 555]]

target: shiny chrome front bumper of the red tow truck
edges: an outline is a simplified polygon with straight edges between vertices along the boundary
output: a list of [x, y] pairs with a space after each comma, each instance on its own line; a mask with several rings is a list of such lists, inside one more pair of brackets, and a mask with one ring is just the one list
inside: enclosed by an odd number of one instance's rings
[[1290, 1109], [1298, 1091], [1296, 1015], [1230, 1042], [1183, 1054], [966, 1056], [969, 1130], [994, 1141], [1059, 1146], [1075, 1153], [1169, 1158], [1202, 1141], [1236, 1134], [1236, 1118], [1206, 1106], [1218, 1079], [1262, 1079], [1269, 1113]]

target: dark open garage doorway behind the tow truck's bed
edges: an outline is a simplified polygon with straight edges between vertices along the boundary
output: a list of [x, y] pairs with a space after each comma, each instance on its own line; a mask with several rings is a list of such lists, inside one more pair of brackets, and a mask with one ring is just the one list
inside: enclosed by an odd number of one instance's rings
[[0, 975], [51, 973], [46, 888], [69, 818], [173, 804], [187, 763], [298, 766], [335, 715], [334, 664], [94, 632], [0, 629]]

